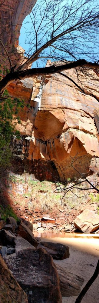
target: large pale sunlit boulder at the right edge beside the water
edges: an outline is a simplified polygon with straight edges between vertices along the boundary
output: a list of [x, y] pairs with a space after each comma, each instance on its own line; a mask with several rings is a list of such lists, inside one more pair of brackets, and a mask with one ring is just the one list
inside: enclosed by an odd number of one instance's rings
[[74, 226], [84, 233], [94, 232], [99, 228], [99, 215], [85, 209], [75, 220]]

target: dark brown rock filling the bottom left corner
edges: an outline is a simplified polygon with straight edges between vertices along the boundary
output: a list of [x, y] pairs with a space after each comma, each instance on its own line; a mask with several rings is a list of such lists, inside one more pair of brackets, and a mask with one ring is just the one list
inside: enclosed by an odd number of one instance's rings
[[28, 303], [28, 298], [0, 255], [0, 303]]

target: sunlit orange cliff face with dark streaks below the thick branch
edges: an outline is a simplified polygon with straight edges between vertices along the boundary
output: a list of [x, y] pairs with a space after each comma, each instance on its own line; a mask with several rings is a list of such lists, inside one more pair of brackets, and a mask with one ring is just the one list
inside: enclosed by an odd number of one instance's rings
[[[51, 65], [51, 62], [48, 64]], [[77, 82], [73, 69], [64, 74]], [[95, 75], [94, 72], [91, 74]], [[97, 95], [98, 77], [95, 75], [92, 78], [90, 83], [90, 78], [86, 80], [80, 74], [84, 89], [89, 92], [91, 87], [91, 93], [94, 93], [95, 87]], [[18, 81], [16, 85], [12, 83], [9, 92], [24, 98], [26, 104], [31, 106], [20, 111], [21, 125], [17, 124], [16, 128], [21, 133], [21, 139], [14, 137], [11, 143], [16, 163], [22, 161], [21, 167], [25, 171], [42, 180], [46, 178], [43, 172], [46, 170], [49, 180], [52, 180], [54, 171], [51, 172], [51, 167], [54, 165], [57, 171], [55, 177], [61, 180], [79, 177], [71, 167], [75, 156], [73, 166], [85, 176], [99, 170], [96, 127], [99, 104], [94, 97], [84, 95], [74, 83], [60, 74], [48, 75], [43, 80], [35, 77]], [[39, 170], [40, 165], [44, 169]]]

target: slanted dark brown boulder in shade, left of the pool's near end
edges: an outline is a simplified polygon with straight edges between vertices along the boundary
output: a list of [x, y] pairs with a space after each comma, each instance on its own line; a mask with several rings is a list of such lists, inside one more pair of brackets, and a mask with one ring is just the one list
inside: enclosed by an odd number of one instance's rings
[[36, 241], [32, 231], [24, 223], [18, 225], [17, 234], [28, 241], [31, 245], [37, 247], [38, 242]]

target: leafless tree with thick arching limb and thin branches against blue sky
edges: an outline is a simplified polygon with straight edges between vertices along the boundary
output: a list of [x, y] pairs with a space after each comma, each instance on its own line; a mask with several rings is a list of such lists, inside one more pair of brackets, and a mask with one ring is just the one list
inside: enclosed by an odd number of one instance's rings
[[[31, 28], [27, 30], [26, 43], [29, 50], [23, 62], [13, 66], [10, 53], [0, 38], [1, 49], [5, 50], [10, 72], [0, 81], [2, 94], [9, 83], [23, 78], [58, 73], [76, 69], [84, 74], [99, 71], [97, 48], [99, 43], [99, 5], [92, 0], [41, 0], [30, 6]], [[43, 66], [45, 60], [53, 61]], [[58, 61], [58, 64], [55, 61]], [[29, 68], [32, 65], [32, 68]], [[36, 66], [36, 67], [35, 67]], [[83, 89], [83, 88], [82, 88]], [[84, 92], [84, 90], [83, 90]], [[85, 92], [87, 93], [87, 92]], [[88, 92], [89, 94], [89, 92]]]

